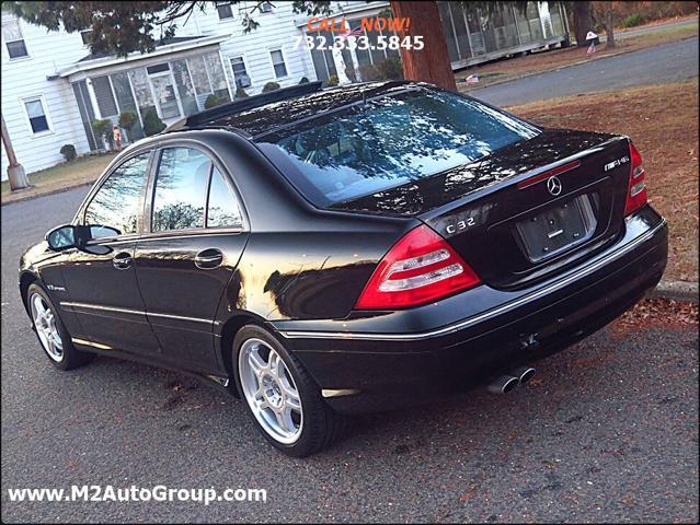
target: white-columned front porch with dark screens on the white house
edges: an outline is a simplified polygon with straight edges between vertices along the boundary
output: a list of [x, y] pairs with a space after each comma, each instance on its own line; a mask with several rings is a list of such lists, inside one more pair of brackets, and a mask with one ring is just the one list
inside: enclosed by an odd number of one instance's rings
[[91, 150], [105, 144], [92, 128], [97, 119], [118, 124], [122, 112], [133, 112], [137, 121], [122, 131], [122, 141], [141, 139], [144, 120], [154, 112], [170, 125], [205, 108], [210, 95], [229, 101], [234, 91], [228, 83], [219, 43], [226, 36], [174, 38], [147, 55], [126, 58], [88, 56], [56, 79], [70, 82]]

